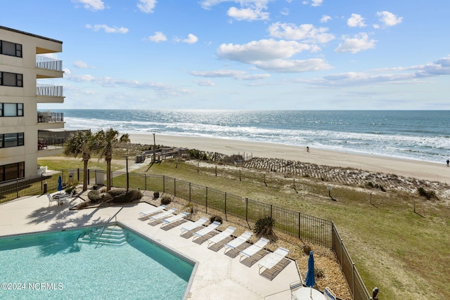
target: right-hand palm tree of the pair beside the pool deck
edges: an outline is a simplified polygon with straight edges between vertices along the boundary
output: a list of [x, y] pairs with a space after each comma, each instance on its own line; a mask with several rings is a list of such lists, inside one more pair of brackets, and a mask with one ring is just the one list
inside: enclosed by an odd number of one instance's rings
[[113, 149], [118, 143], [129, 143], [128, 134], [119, 137], [119, 131], [112, 128], [98, 131], [96, 133], [98, 141], [98, 158], [103, 157], [106, 162], [106, 190], [111, 189], [111, 160], [113, 159]]

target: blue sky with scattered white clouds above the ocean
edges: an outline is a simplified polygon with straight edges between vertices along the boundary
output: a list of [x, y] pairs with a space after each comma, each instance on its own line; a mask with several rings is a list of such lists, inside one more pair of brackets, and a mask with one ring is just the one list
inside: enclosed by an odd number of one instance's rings
[[450, 109], [450, 1], [16, 0], [0, 24], [63, 41], [39, 108]]

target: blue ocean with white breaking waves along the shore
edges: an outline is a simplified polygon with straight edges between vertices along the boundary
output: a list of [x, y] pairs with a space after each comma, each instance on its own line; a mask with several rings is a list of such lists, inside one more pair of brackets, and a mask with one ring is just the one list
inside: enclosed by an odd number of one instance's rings
[[259, 141], [445, 163], [444, 110], [58, 110], [66, 129]]

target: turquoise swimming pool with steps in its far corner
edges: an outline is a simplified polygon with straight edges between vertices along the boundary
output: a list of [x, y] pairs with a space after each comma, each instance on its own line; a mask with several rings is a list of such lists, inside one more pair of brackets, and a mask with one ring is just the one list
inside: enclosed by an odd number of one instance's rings
[[123, 229], [122, 245], [83, 228], [0, 238], [0, 299], [183, 299], [194, 265]]

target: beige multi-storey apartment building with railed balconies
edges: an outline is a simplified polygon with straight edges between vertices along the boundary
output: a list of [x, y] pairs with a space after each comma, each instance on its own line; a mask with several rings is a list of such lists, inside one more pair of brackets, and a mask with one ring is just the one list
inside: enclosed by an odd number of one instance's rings
[[64, 102], [63, 86], [45, 82], [63, 77], [63, 62], [43, 56], [62, 50], [62, 41], [0, 26], [0, 182], [37, 175], [38, 157], [63, 150], [48, 138], [63, 114], [37, 110]]

